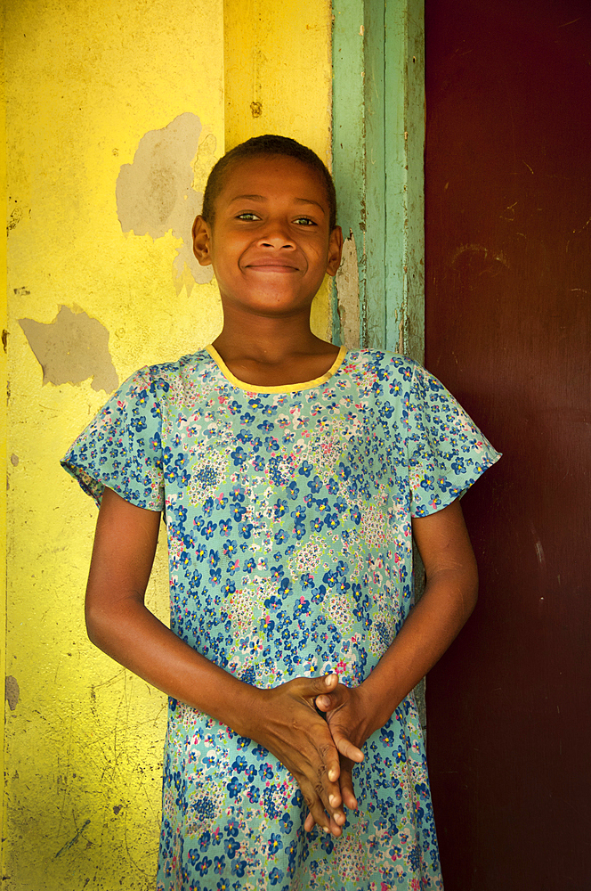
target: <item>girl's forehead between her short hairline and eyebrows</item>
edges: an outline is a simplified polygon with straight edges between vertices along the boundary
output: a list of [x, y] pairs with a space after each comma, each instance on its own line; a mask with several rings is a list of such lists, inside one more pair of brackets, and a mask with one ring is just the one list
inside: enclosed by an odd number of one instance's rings
[[229, 202], [242, 195], [310, 199], [328, 213], [327, 188], [320, 171], [287, 155], [255, 155], [233, 161], [223, 173], [218, 200]]

